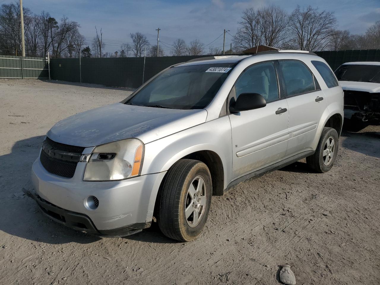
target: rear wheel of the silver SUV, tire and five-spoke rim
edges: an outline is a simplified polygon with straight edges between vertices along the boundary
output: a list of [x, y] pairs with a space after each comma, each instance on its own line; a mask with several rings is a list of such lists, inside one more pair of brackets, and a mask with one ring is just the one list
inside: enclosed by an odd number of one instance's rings
[[[333, 146], [331, 146], [332, 143]], [[319, 173], [325, 173], [329, 171], [334, 165], [338, 153], [338, 148], [339, 136], [337, 131], [333, 128], [324, 127], [318, 142], [317, 149], [313, 155], [310, 155], [306, 158], [306, 163], [315, 171]]]

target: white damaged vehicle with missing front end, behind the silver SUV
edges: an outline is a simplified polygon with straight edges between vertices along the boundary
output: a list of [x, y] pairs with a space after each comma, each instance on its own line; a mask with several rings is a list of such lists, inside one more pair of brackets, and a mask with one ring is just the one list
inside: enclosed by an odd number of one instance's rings
[[380, 62], [347, 62], [335, 74], [344, 91], [344, 117], [357, 129], [380, 119]]

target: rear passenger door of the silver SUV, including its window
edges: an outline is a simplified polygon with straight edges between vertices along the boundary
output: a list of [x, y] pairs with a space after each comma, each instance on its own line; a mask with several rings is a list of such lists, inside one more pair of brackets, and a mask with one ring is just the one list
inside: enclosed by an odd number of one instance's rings
[[285, 98], [289, 105], [289, 142], [286, 156], [313, 150], [317, 126], [327, 108], [323, 91], [307, 65], [294, 59], [279, 60]]

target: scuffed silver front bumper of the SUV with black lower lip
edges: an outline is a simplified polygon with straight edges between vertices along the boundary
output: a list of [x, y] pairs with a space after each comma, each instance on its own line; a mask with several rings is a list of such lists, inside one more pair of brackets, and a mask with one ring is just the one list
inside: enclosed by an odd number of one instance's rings
[[[120, 181], [83, 181], [85, 162], [72, 178], [51, 174], [39, 159], [32, 166], [35, 192], [27, 193], [52, 220], [98, 236], [126, 236], [150, 226], [158, 188], [165, 175], [148, 174]], [[99, 200], [96, 209], [87, 198]]]

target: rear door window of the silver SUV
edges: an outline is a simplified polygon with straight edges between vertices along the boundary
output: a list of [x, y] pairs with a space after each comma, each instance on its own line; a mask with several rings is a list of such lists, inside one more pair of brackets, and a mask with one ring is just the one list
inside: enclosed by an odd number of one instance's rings
[[315, 90], [313, 74], [306, 65], [298, 60], [279, 62], [287, 96], [294, 96]]

